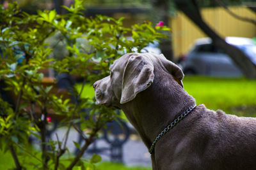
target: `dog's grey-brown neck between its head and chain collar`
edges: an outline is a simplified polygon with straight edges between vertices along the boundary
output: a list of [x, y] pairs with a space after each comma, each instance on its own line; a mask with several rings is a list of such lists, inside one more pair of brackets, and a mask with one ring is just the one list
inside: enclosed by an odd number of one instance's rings
[[[161, 79], [161, 76], [158, 77]], [[195, 99], [177, 81], [168, 78], [164, 81], [154, 80], [147, 90], [140, 92], [133, 101], [123, 104], [121, 108], [149, 147], [159, 132], [193, 105]]]

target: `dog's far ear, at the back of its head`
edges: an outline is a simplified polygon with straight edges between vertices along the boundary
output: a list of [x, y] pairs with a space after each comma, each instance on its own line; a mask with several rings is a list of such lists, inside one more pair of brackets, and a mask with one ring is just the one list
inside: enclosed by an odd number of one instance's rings
[[170, 60], [167, 60], [163, 54], [161, 54], [161, 57], [163, 57], [163, 64], [164, 67], [167, 69], [167, 71], [173, 75], [173, 78], [175, 81], [179, 83], [179, 85], [183, 88], [182, 79], [184, 78], [184, 74], [179, 66], [171, 62]]

